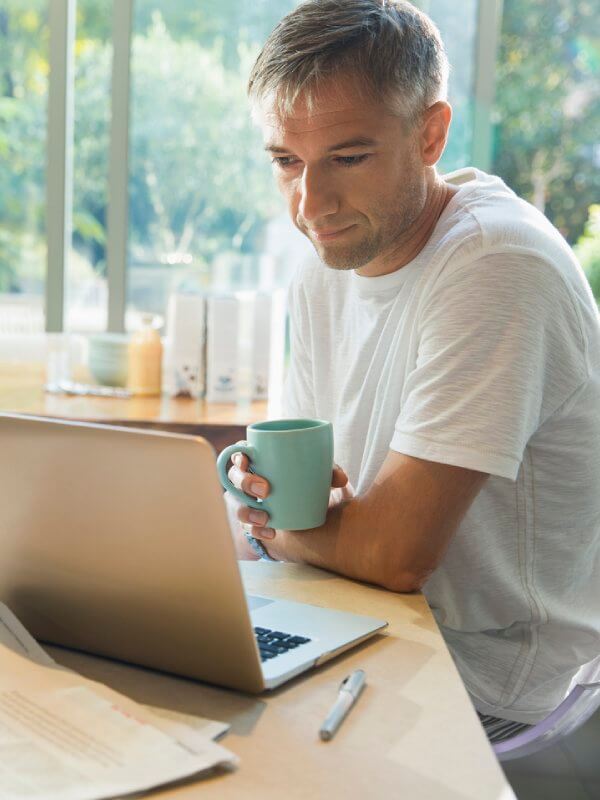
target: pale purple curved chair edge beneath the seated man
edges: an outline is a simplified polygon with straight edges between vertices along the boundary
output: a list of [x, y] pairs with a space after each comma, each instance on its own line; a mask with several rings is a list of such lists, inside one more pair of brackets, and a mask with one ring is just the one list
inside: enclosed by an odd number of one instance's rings
[[578, 684], [541, 722], [492, 745], [499, 761], [511, 761], [543, 750], [583, 725], [600, 708], [600, 680]]

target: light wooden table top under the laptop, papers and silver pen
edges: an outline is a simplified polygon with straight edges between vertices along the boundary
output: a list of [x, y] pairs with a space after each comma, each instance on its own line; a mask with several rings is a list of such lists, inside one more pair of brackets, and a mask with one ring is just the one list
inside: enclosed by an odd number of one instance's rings
[[[220, 774], [156, 798], [514, 800], [422, 595], [397, 595], [295, 564], [241, 564], [247, 589], [360, 611], [390, 623], [366, 642], [278, 690], [252, 697], [49, 648], [59, 663], [143, 703], [232, 725], [240, 757]], [[317, 732], [353, 669], [367, 687], [330, 742]]]

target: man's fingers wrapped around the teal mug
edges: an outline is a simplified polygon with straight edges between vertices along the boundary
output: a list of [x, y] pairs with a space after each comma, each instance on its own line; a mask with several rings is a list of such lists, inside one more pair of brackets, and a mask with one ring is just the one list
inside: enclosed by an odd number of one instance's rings
[[[248, 472], [248, 456], [243, 453], [236, 453], [232, 458], [233, 466], [229, 470], [228, 477], [233, 485], [241, 489], [252, 498], [264, 500], [269, 496], [271, 487], [266, 478]], [[340, 503], [350, 500], [354, 496], [354, 489], [348, 481], [348, 476], [337, 464], [333, 467], [331, 474], [331, 494], [329, 497], [329, 508], [335, 508]], [[240, 503], [235, 497], [227, 493], [227, 505], [230, 513], [233, 511], [240, 523], [236, 535], [236, 549], [239, 558], [255, 559], [256, 554], [242, 534], [243, 530], [251, 533], [256, 539], [263, 539], [267, 542], [275, 537], [276, 531], [269, 527], [269, 515], [266, 511], [258, 511]]]

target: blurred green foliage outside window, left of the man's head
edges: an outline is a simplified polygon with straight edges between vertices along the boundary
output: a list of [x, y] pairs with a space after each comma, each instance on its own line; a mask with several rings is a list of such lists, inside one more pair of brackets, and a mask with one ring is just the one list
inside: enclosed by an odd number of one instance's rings
[[[43, 292], [47, 2], [0, 0], [0, 292]], [[156, 7], [161, 6], [161, 12]], [[132, 41], [130, 257], [260, 249], [279, 208], [248, 113], [251, 63], [296, 0], [138, 0]], [[106, 269], [111, 31], [80, 0], [75, 45], [73, 241]], [[260, 153], [262, 156], [262, 153]], [[32, 218], [36, 225], [32, 226]]]

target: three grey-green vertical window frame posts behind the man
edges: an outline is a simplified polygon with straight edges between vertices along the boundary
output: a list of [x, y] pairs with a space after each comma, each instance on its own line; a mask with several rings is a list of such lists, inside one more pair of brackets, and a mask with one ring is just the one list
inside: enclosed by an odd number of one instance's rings
[[[113, 0], [110, 141], [107, 208], [107, 330], [125, 330], [129, 218], [131, 44], [135, 0]], [[478, 0], [470, 162], [488, 170], [492, 158], [491, 108], [503, 0]], [[428, 0], [415, 0], [427, 12]], [[77, 0], [49, 0], [50, 81], [47, 139], [46, 331], [65, 319], [65, 275], [72, 232], [74, 43]]]

